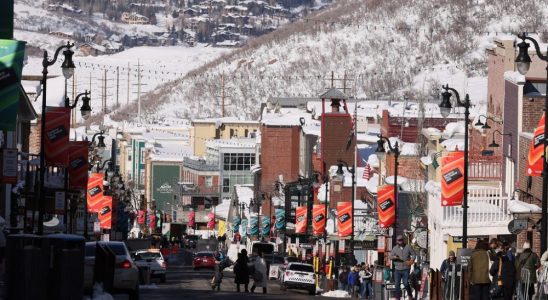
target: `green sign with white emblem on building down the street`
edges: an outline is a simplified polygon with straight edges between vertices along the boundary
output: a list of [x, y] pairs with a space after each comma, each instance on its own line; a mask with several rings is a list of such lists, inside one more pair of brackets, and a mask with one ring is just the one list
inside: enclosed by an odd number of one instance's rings
[[181, 174], [178, 165], [152, 165], [152, 199], [156, 201], [156, 209], [170, 210], [167, 202], [173, 204], [173, 189], [176, 188]]

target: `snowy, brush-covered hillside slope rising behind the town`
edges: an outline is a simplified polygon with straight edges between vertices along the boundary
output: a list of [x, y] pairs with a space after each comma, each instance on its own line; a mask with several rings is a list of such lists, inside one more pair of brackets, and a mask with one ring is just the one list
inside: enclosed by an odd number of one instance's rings
[[336, 79], [346, 72], [347, 92], [355, 97], [429, 98], [449, 83], [476, 90], [472, 101], [485, 102], [485, 48], [521, 30], [546, 31], [542, 2], [338, 1], [148, 94], [146, 110], [218, 116], [224, 82], [227, 114], [257, 117], [269, 96], [317, 96], [331, 85], [332, 71]]

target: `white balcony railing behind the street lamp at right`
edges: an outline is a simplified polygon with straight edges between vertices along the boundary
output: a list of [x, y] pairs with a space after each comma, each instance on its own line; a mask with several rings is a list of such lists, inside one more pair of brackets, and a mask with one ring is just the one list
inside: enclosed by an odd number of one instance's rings
[[[502, 187], [471, 186], [468, 188], [468, 225], [481, 226], [496, 222], [508, 222], [512, 216], [508, 214], [507, 198], [502, 194]], [[441, 203], [441, 201], [440, 201]], [[442, 207], [442, 222], [462, 224], [463, 210], [461, 206]]]

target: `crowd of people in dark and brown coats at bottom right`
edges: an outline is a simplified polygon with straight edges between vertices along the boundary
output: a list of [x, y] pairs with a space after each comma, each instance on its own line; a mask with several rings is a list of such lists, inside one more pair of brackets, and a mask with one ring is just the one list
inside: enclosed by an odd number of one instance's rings
[[[531, 250], [529, 242], [523, 243], [521, 253], [516, 256], [508, 242], [497, 239], [489, 243], [486, 240], [478, 241], [468, 264], [470, 299], [511, 300], [516, 294], [521, 299], [532, 299], [537, 283], [537, 269], [547, 260], [548, 251], [539, 258]], [[455, 253], [450, 251], [440, 269], [447, 299], [455, 264]]]

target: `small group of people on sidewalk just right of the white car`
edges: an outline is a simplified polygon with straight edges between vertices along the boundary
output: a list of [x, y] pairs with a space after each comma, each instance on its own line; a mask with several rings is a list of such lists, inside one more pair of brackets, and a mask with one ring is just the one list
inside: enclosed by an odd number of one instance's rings
[[341, 289], [347, 291], [351, 297], [362, 299], [373, 298], [373, 266], [361, 263], [352, 268], [345, 267], [339, 274]]

